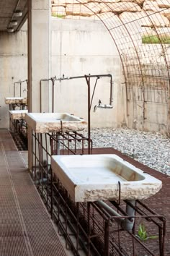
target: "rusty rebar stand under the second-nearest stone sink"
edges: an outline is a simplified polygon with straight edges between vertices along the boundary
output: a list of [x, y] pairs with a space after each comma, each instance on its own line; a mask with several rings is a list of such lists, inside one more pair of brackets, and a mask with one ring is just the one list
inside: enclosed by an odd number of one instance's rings
[[[59, 150], [62, 155], [83, 155], [86, 148], [90, 148], [89, 152], [92, 153], [92, 141], [80, 132], [36, 134], [32, 131], [32, 142], [32, 179], [45, 200], [45, 204], [49, 205], [49, 202], [52, 202], [51, 155], [58, 155]], [[52, 203], [50, 203], [50, 208], [53, 208]]]

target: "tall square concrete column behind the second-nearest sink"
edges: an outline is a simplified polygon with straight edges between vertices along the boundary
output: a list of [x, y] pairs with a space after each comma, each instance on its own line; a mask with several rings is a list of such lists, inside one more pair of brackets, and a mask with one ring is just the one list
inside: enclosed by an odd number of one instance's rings
[[[50, 77], [50, 0], [28, 1], [28, 111], [40, 112], [40, 80]], [[49, 97], [43, 111], [49, 111]], [[32, 166], [31, 130], [28, 163]]]

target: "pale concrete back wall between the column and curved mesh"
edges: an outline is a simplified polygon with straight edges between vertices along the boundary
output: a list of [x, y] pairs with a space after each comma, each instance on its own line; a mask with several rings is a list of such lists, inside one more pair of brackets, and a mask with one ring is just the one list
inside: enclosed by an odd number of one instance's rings
[[[120, 57], [102, 22], [53, 19], [52, 76], [74, 77], [84, 74], [112, 74], [114, 108], [97, 109], [99, 99], [109, 104], [109, 79], [97, 82], [91, 106], [92, 127], [119, 127], [124, 119], [122, 69]], [[95, 79], [91, 79], [91, 94]], [[87, 85], [85, 79], [55, 83], [55, 111], [68, 111], [87, 119]]]

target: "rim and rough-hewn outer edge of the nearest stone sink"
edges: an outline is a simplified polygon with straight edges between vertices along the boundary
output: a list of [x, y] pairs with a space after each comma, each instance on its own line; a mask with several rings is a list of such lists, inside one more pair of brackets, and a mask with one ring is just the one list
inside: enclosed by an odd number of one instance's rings
[[118, 199], [119, 193], [117, 182], [112, 182], [110, 184], [81, 184], [76, 177], [73, 176], [73, 173], [71, 174], [69, 168], [67, 168], [62, 161], [62, 159], [65, 158], [74, 158], [74, 161], [76, 161], [76, 158], [79, 157], [82, 159], [81, 166], [83, 166], [83, 158], [99, 158], [102, 156], [107, 158], [115, 158], [115, 160], [120, 161], [120, 163], [123, 163], [123, 165], [128, 166], [128, 168], [132, 168], [133, 171], [145, 177], [145, 179], [135, 182], [122, 181], [120, 183], [121, 199], [144, 199], [156, 194], [156, 192], [161, 189], [161, 181], [149, 174], [144, 173], [142, 170], [136, 168], [127, 161], [123, 161], [122, 158], [118, 157], [117, 155], [53, 155], [51, 160], [53, 172], [58, 176], [58, 179], [61, 180], [61, 183], [64, 187], [66, 187], [68, 193], [75, 202]]

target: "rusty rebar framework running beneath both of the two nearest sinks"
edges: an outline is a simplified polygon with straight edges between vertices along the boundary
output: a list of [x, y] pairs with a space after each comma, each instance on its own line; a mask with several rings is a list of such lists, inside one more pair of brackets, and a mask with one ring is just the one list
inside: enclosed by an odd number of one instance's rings
[[[118, 202], [107, 202], [121, 215], [111, 216], [97, 202], [73, 202], [58, 177], [52, 175], [50, 156], [58, 152], [58, 141], [61, 154], [83, 154], [88, 152], [88, 137], [77, 132], [41, 135], [32, 132], [32, 140], [32, 179], [59, 233], [65, 237], [66, 247], [74, 255], [81, 255], [83, 250], [86, 255], [95, 256], [164, 256], [164, 216], [156, 214], [139, 200], [130, 205], [129, 201], [121, 198]], [[135, 210], [135, 216], [127, 216], [126, 205]], [[117, 218], [135, 218], [133, 230], [123, 230]], [[146, 241], [139, 236], [140, 225], [144, 225], [148, 233]], [[149, 239], [153, 235], [156, 238]]]

